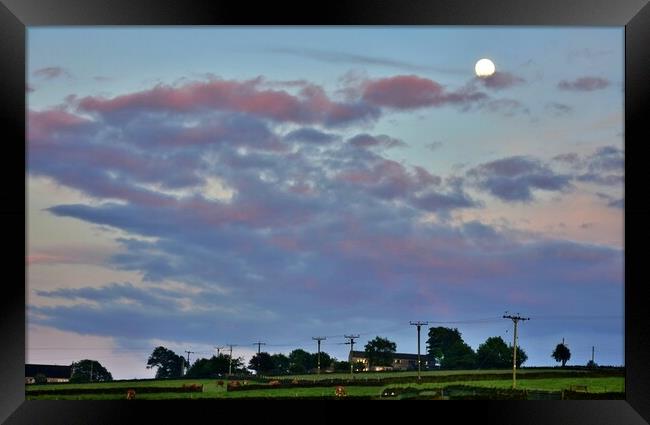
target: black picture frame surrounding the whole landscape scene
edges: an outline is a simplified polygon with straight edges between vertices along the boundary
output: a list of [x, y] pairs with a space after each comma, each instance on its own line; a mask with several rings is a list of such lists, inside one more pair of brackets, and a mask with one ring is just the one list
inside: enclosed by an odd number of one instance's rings
[[[364, 0], [354, 2], [234, 2], [178, 0], [1, 0], [0, 120], [9, 149], [0, 173], [9, 199], [0, 215], [5, 233], [5, 275], [0, 301], [0, 421], [22, 423], [130, 423], [134, 415], [171, 418], [183, 411], [216, 417], [210, 408], [191, 403], [126, 401], [25, 401], [25, 270], [17, 247], [25, 246], [25, 48], [26, 27], [68, 25], [542, 25], [625, 27], [625, 366], [626, 400], [437, 403], [423, 412], [454, 422], [481, 420], [498, 424], [642, 424], [650, 421], [650, 331], [644, 297], [648, 208], [644, 144], [650, 140], [644, 118], [650, 110], [650, 5], [647, 0]], [[7, 134], [8, 133], [8, 134]], [[20, 160], [19, 158], [22, 158]], [[6, 195], [5, 195], [6, 196]], [[20, 242], [22, 241], [22, 243]], [[21, 245], [22, 244], [22, 245]], [[631, 249], [627, 249], [631, 248]], [[22, 255], [22, 253], [21, 253]], [[11, 276], [11, 277], [8, 277]], [[21, 280], [20, 277], [23, 277]], [[210, 401], [208, 401], [209, 403]], [[232, 401], [229, 401], [231, 403]], [[196, 401], [194, 401], [196, 403]], [[205, 402], [202, 402], [205, 403]], [[262, 418], [265, 409], [238, 411]], [[336, 407], [340, 407], [341, 404]], [[394, 404], [392, 406], [395, 406]], [[287, 409], [281, 409], [287, 411]], [[325, 419], [338, 409], [319, 409]], [[371, 409], [376, 410], [376, 409]], [[380, 411], [384, 409], [379, 409]], [[442, 412], [444, 411], [444, 412]], [[328, 413], [329, 412], [329, 413]], [[363, 415], [367, 408], [360, 409]], [[365, 412], [365, 413], [363, 413]], [[286, 414], [286, 413], [285, 413]], [[285, 420], [285, 414], [282, 419]], [[427, 417], [429, 417], [427, 415]], [[220, 416], [223, 418], [223, 416]], [[336, 418], [332, 416], [332, 418]], [[290, 419], [290, 418], [289, 418]], [[433, 417], [431, 416], [433, 420]], [[153, 421], [153, 419], [151, 420]]]

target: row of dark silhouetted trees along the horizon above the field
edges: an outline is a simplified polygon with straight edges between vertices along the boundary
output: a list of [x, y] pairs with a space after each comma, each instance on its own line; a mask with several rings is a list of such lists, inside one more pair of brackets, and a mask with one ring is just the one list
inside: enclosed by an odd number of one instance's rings
[[[428, 360], [429, 369], [506, 369], [512, 367], [512, 345], [500, 336], [489, 337], [480, 344], [476, 351], [462, 338], [456, 328], [432, 327], [426, 340], [426, 352], [422, 355], [423, 364]], [[364, 347], [368, 364], [358, 362], [352, 365], [356, 372], [371, 369], [376, 366], [391, 366], [395, 358], [397, 344], [387, 338], [377, 336], [368, 341]], [[557, 344], [551, 357], [562, 367], [571, 358], [571, 351], [564, 342]], [[526, 362], [528, 356], [523, 348], [517, 347], [517, 367]], [[320, 352], [322, 371], [349, 372], [350, 363], [337, 360], [328, 353]], [[588, 367], [597, 367], [589, 361]], [[282, 353], [270, 354], [260, 352], [255, 354], [248, 365], [242, 357], [230, 358], [227, 354], [213, 355], [210, 358], [199, 358], [193, 364], [176, 354], [174, 351], [159, 346], [156, 347], [147, 360], [147, 369], [156, 368], [156, 379], [167, 378], [213, 378], [227, 375], [232, 371], [235, 375], [250, 374], [255, 371], [258, 375], [301, 375], [315, 373], [318, 367], [318, 353], [309, 353], [303, 349], [291, 351], [288, 355]], [[45, 377], [38, 377], [37, 383], [45, 382]], [[103, 382], [112, 381], [111, 373], [97, 360], [84, 359], [72, 363], [70, 382]]]

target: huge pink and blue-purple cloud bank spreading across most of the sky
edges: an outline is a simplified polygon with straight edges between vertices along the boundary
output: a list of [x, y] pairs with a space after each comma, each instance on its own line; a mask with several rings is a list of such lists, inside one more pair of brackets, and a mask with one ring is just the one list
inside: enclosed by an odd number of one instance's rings
[[[47, 305], [30, 303], [30, 322], [132, 341], [311, 341], [314, 332], [374, 330], [378, 320], [403, 321], [413, 311], [493, 314], [522, 282], [529, 299], [559, 300], [548, 311], [573, 308], [575, 299], [580, 308], [613, 308], [600, 300], [620, 297], [622, 250], [543, 235], [524, 243], [505, 226], [452, 219], [482, 206], [467, 192], [472, 185], [506, 200], [567, 189], [550, 165], [505, 158], [443, 178], [373, 148], [399, 145], [390, 135], [327, 129], [390, 109], [487, 98], [419, 77], [359, 84], [356, 98], [341, 101], [308, 82], [277, 90], [214, 79], [30, 111], [27, 171], [93, 198], [45, 212], [126, 234], [107, 232], [118, 248], [102, 261], [142, 276], [95, 288], [53, 285], [38, 297]], [[596, 171], [619, 153], [593, 155]], [[214, 186], [228, 195], [214, 196]], [[62, 254], [29, 253], [41, 263]], [[586, 288], [603, 298], [580, 298]]]

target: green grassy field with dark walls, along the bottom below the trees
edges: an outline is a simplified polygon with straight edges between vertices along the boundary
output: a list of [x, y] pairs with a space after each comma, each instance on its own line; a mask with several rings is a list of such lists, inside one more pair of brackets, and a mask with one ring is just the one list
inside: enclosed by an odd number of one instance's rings
[[[125, 399], [129, 389], [136, 399], [240, 398], [424, 398], [424, 399], [624, 399], [623, 369], [608, 371], [521, 370], [512, 391], [509, 371], [436, 371], [423, 373], [360, 373], [277, 377], [277, 382], [239, 381], [239, 386], [217, 379], [114, 381], [89, 384], [27, 385], [28, 400]], [[199, 384], [201, 388], [188, 388]], [[232, 382], [231, 382], [232, 384]], [[345, 395], [337, 396], [343, 387]], [[339, 391], [340, 392], [340, 391]]]

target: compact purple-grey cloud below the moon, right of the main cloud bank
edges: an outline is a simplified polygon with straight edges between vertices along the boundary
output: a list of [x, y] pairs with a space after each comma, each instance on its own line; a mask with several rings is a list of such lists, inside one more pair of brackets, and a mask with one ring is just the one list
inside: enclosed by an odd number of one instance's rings
[[481, 164], [467, 172], [474, 185], [506, 202], [530, 202], [533, 190], [564, 191], [569, 175], [557, 174], [541, 161], [512, 156]]

